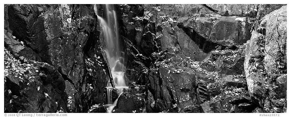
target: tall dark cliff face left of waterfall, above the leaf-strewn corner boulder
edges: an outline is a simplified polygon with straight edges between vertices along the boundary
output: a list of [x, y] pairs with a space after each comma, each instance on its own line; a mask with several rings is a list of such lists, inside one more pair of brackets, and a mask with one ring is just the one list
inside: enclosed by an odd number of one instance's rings
[[89, 106], [105, 103], [103, 89], [109, 72], [93, 5], [13, 4], [5, 9], [5, 46], [23, 61], [55, 67], [72, 97], [66, 112], [87, 112]]

